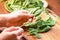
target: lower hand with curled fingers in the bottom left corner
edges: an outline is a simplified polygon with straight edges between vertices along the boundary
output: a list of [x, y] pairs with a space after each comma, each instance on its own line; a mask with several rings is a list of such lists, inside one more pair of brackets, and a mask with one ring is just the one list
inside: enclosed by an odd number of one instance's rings
[[3, 30], [0, 40], [20, 40], [24, 30], [20, 27], [10, 27]]

